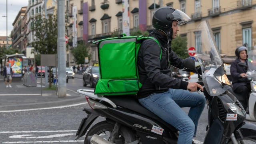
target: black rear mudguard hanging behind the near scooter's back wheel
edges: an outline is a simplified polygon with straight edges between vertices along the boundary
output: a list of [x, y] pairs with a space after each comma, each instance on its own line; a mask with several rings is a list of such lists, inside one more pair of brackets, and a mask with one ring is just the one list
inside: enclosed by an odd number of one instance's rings
[[95, 112], [92, 109], [88, 109], [88, 108], [84, 108], [84, 110], [86, 112], [87, 117], [82, 119], [82, 122], [76, 132], [76, 139], [80, 138], [81, 136], [84, 136], [84, 134], [87, 132], [88, 128], [90, 127], [90, 125], [92, 124], [92, 122], [94, 122], [94, 120], [96, 120], [96, 118], [98, 118], [98, 116], [100, 116], [97, 112]]

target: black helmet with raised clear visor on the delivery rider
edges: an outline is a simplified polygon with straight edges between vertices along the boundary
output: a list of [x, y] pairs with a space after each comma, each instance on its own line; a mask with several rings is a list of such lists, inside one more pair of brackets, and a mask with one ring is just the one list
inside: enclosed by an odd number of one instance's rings
[[156, 10], [152, 18], [154, 28], [164, 32], [168, 39], [172, 39], [172, 21], [177, 20], [178, 24], [182, 25], [190, 21], [191, 18], [180, 10], [175, 10], [170, 7], [162, 7]]

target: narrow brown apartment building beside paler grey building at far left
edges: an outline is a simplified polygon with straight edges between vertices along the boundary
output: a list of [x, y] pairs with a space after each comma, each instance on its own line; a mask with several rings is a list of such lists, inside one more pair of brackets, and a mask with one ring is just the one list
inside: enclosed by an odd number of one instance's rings
[[12, 37], [12, 48], [16, 48], [19, 51], [23, 50], [23, 23], [22, 23], [22, 18], [25, 15], [26, 12], [26, 6], [22, 7], [20, 11], [18, 12], [14, 22], [12, 23], [13, 29], [11, 32], [11, 37]]

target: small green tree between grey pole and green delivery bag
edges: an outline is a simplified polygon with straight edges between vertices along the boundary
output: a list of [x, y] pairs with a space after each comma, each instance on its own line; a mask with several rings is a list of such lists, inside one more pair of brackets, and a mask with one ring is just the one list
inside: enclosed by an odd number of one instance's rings
[[89, 57], [89, 61], [90, 61], [91, 55], [88, 54], [89, 49], [87, 44], [84, 44], [84, 42], [81, 42], [80, 44], [78, 44], [76, 48], [71, 48], [70, 51], [75, 58], [74, 61], [76, 62], [76, 64], [84, 64], [85, 57]]

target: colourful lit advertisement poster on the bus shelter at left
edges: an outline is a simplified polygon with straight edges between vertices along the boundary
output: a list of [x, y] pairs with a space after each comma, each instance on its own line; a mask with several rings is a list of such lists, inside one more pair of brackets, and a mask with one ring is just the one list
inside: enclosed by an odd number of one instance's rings
[[12, 68], [12, 77], [22, 77], [22, 58], [9, 58], [9, 66]]

